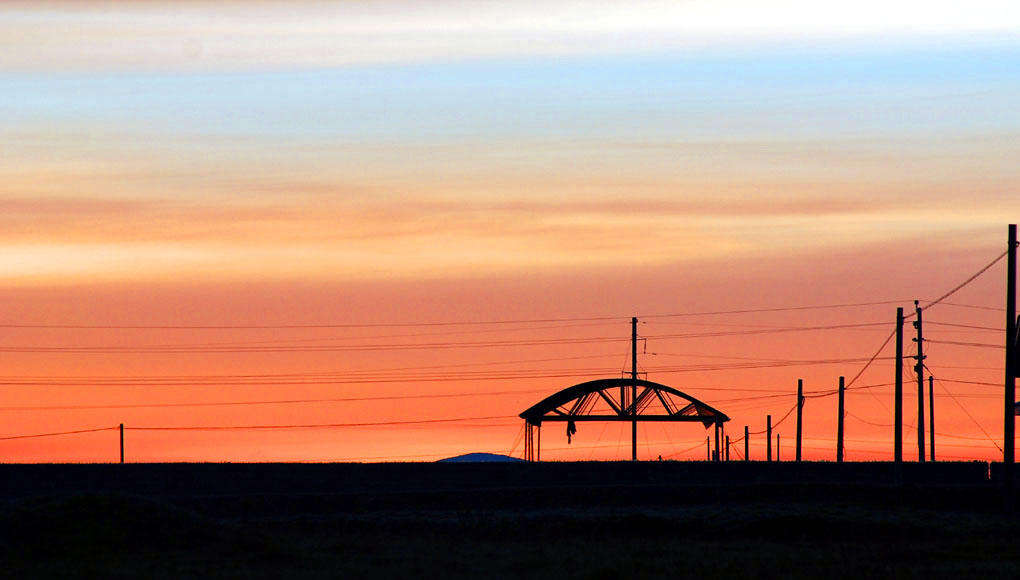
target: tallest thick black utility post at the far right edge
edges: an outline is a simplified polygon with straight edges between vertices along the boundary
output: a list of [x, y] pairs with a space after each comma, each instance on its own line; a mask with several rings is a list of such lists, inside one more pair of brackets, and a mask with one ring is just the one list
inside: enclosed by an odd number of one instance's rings
[[1006, 512], [1013, 511], [1013, 464], [1016, 436], [1016, 377], [1017, 368], [1017, 225], [1010, 224], [1009, 248], [1006, 259], [1006, 417], [1003, 421], [1003, 487]]

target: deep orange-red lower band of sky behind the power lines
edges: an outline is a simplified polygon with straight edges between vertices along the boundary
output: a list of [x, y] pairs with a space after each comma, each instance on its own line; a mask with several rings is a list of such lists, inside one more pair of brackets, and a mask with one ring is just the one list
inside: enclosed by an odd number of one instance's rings
[[[918, 242], [918, 246], [923, 248]], [[474, 342], [471, 348], [396, 351], [332, 351], [274, 353], [24, 353], [7, 352], [9, 377], [79, 377], [67, 385], [23, 384], [5, 387], [8, 394], [5, 431], [41, 433], [116, 425], [208, 426], [336, 424], [351, 422], [413, 421], [437, 418], [515, 416], [546, 393], [588, 378], [619, 376], [625, 367], [628, 314], [654, 315], [728, 309], [769, 308], [790, 305], [840, 304], [898, 300], [916, 295], [931, 300], [976, 271], [996, 256], [994, 248], [970, 252], [945, 248], [912, 251], [908, 245], [874, 248], [859, 253], [805, 252], [787, 260], [757, 260], [754, 254], [726, 261], [687, 263], [682, 267], [614, 267], [577, 269], [549, 274], [398, 281], [225, 281], [219, 283], [130, 283], [88, 286], [15, 287], [3, 301], [16, 305], [8, 320], [19, 323], [71, 325], [277, 325], [441, 322], [464, 320], [519, 320], [622, 315], [618, 321], [532, 323], [507, 326], [413, 327], [370, 329], [39, 329], [5, 328], [8, 347], [139, 347], [256, 341], [285, 346], [421, 345]], [[994, 306], [1002, 302], [1002, 263], [978, 278], [953, 302]], [[925, 283], [919, 284], [918, 280]], [[911, 292], [924, 285], [926, 292]], [[930, 286], [931, 289], [928, 289]], [[937, 289], [936, 289], [937, 288]], [[909, 306], [905, 304], [905, 306]], [[716, 315], [688, 318], [648, 318], [641, 326], [644, 342], [640, 362], [649, 377], [714, 404], [732, 417], [729, 432], [735, 438], [743, 426], [764, 427], [765, 415], [778, 420], [790, 408], [798, 378], [806, 388], [834, 387], [839, 374], [848, 378], [860, 362], [745, 370], [685, 370], [730, 363], [725, 357], [752, 359], [820, 360], [868, 358], [892, 327], [895, 305], [804, 312]], [[1002, 313], [937, 306], [926, 315], [930, 322], [964, 323], [998, 327]], [[662, 334], [702, 333], [759, 326], [829, 325], [879, 322], [883, 326], [843, 330], [807, 331], [725, 337], [657, 338]], [[591, 324], [591, 325], [588, 325]], [[734, 326], [735, 325], [735, 326]], [[467, 333], [457, 333], [464, 332]], [[909, 332], [908, 328], [908, 332]], [[440, 333], [428, 335], [430, 333]], [[408, 335], [410, 334], [410, 335]], [[425, 335], [422, 335], [425, 334]], [[388, 337], [395, 335], [394, 337]], [[928, 326], [928, 337], [958, 341], [998, 342], [1001, 333]], [[618, 337], [618, 341], [585, 345], [478, 347], [477, 342], [574, 337]], [[313, 339], [313, 340], [309, 340]], [[303, 341], [288, 341], [303, 340]], [[304, 350], [303, 350], [304, 351]], [[883, 356], [891, 356], [891, 348]], [[654, 353], [654, 355], [652, 354]], [[931, 345], [929, 366], [947, 379], [1001, 382], [1002, 351]], [[509, 361], [518, 362], [489, 365]], [[591, 358], [589, 358], [591, 357]], [[712, 358], [719, 357], [719, 358]], [[478, 365], [478, 366], [458, 366]], [[416, 379], [393, 377], [404, 371], [429, 373]], [[657, 372], [656, 369], [666, 369]], [[536, 374], [572, 375], [543, 378], [506, 378], [504, 371], [534, 370]], [[373, 370], [354, 376], [358, 370]], [[472, 375], [467, 373], [483, 372]], [[545, 372], [548, 371], [548, 372]], [[180, 377], [183, 375], [286, 375], [251, 379], [203, 381], [201, 386], [111, 385], [109, 379], [81, 377]], [[317, 373], [339, 373], [340, 377]], [[439, 373], [434, 375], [432, 373]], [[436, 378], [440, 380], [436, 380]], [[486, 379], [486, 377], [489, 377]], [[503, 378], [497, 378], [503, 377]], [[858, 384], [887, 383], [892, 364], [876, 362]], [[428, 380], [422, 380], [428, 378]], [[475, 379], [477, 378], [477, 379]], [[324, 379], [324, 380], [323, 380]], [[458, 380], [474, 379], [474, 380]], [[479, 380], [480, 379], [480, 380]], [[231, 384], [215, 384], [230, 381]], [[43, 382], [47, 379], [33, 379]], [[52, 382], [52, 378], [50, 379]], [[300, 384], [293, 384], [293, 383]], [[307, 384], [325, 382], [326, 384]], [[975, 424], [945, 391], [936, 390], [939, 432], [966, 439], [938, 440], [939, 456], [994, 458], [994, 447], [980, 428], [1001, 437], [1001, 387], [942, 383], [981, 427]], [[940, 389], [941, 387], [939, 387]], [[510, 392], [508, 392], [510, 391]], [[524, 391], [524, 392], [513, 392]], [[764, 392], [758, 392], [764, 391]], [[486, 393], [500, 394], [486, 394]], [[786, 392], [778, 399], [741, 401]], [[872, 394], [872, 392], [874, 394]], [[907, 421], [916, 409], [914, 388], [908, 382]], [[406, 396], [458, 397], [400, 399]], [[474, 396], [464, 396], [474, 393]], [[994, 397], [992, 397], [994, 396]], [[223, 407], [161, 407], [130, 409], [11, 410], [16, 407], [106, 406], [334, 400], [394, 397], [381, 401], [330, 401], [277, 405]], [[891, 429], [862, 423], [889, 423], [891, 387], [848, 394], [854, 417], [847, 422], [848, 457], [881, 459], [890, 453]], [[805, 410], [806, 457], [831, 459], [835, 398], [811, 400]], [[332, 461], [361, 458], [421, 458], [471, 451], [506, 453], [519, 429], [516, 419], [467, 421], [466, 425], [388, 426], [315, 429], [306, 431], [130, 431], [129, 459], [135, 461]], [[626, 433], [615, 424], [605, 429], [583, 424], [570, 445], [559, 429], [546, 432], [544, 458], [612, 459], [627, 456]], [[777, 429], [793, 441], [794, 423]], [[696, 444], [706, 432], [700, 426], [642, 427], [643, 457], [668, 456]], [[562, 440], [561, 440], [562, 439]], [[907, 457], [916, 454], [912, 432], [906, 437]], [[622, 446], [618, 447], [617, 444]], [[753, 457], [760, 457], [760, 437], [752, 439]], [[2, 443], [10, 461], [110, 461], [115, 459], [114, 431], [64, 437], [9, 440]], [[592, 445], [601, 445], [592, 449]], [[606, 446], [608, 445], [608, 446]], [[959, 446], [954, 446], [959, 445]], [[701, 447], [699, 447], [701, 449]], [[784, 445], [785, 449], [785, 445]], [[519, 450], [518, 450], [519, 451]], [[792, 457], [793, 447], [787, 456]], [[874, 452], [874, 453], [872, 453]], [[683, 459], [702, 457], [680, 454]]]

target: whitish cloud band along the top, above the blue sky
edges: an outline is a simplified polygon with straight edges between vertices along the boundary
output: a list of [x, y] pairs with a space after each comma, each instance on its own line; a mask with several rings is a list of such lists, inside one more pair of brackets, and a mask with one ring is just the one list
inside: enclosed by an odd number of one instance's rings
[[[342, 66], [1002, 35], [1008, 0], [8, 2], [0, 69]], [[59, 31], [59, 34], [51, 34]], [[45, 39], [40, 42], [39, 39]], [[32, 47], [31, 50], [23, 50]], [[18, 49], [18, 50], [10, 50]]]

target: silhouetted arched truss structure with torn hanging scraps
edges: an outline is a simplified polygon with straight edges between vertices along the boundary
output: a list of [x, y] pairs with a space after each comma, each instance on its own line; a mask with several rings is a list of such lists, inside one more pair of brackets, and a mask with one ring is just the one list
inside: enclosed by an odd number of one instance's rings
[[638, 458], [636, 430], [640, 422], [701, 423], [715, 427], [715, 454], [729, 417], [702, 401], [671, 386], [639, 378], [603, 378], [564, 388], [543, 399], [520, 414], [524, 420], [524, 459], [542, 459], [542, 424], [566, 423], [567, 440], [584, 421], [625, 421], [631, 429], [631, 459]]

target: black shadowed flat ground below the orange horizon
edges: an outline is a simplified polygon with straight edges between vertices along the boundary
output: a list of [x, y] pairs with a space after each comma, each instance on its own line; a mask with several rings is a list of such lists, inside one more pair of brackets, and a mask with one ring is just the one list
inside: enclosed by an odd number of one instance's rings
[[945, 465], [0, 466], [0, 575], [1020, 578]]

